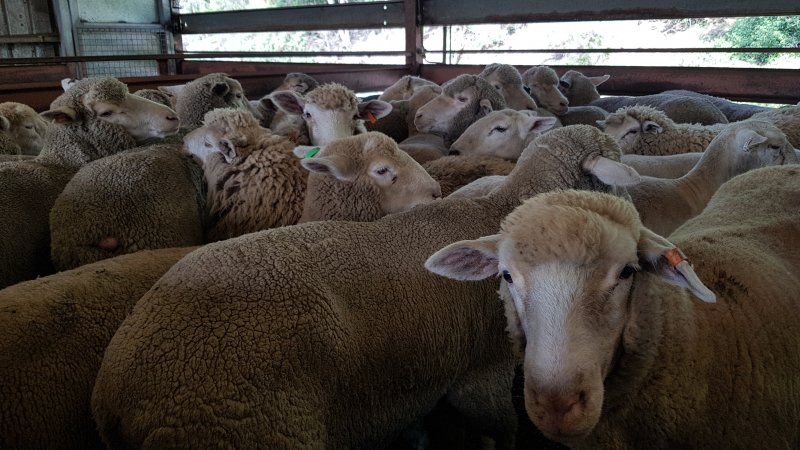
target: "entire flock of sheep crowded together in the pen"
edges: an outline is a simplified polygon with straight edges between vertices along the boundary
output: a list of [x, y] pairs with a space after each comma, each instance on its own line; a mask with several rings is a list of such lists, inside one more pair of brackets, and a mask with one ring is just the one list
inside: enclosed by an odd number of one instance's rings
[[0, 448], [800, 447], [800, 106], [607, 79], [0, 104]]

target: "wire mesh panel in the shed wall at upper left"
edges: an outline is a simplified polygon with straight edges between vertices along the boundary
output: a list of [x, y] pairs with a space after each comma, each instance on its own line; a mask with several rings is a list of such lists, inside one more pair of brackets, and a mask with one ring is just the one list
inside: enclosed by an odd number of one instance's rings
[[[157, 55], [168, 53], [167, 33], [160, 26], [80, 26], [80, 56]], [[159, 75], [154, 60], [98, 61], [81, 64], [81, 77], [147, 77]]]

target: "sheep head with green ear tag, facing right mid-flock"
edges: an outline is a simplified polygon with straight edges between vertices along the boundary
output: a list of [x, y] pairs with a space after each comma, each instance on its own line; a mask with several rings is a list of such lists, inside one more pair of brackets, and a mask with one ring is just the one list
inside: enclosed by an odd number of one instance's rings
[[[305, 156], [308, 148], [299, 146], [297, 156]], [[407, 211], [442, 197], [442, 190], [422, 166], [397, 147], [388, 136], [370, 132], [337, 140], [323, 146], [313, 157], [305, 157], [301, 165], [312, 173], [332, 176], [354, 187], [347, 201], [359, 205], [345, 208], [371, 208], [377, 202], [381, 215]]]

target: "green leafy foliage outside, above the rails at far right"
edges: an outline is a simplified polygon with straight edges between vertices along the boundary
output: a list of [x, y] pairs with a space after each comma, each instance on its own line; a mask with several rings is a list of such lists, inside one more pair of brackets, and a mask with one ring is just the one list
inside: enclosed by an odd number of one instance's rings
[[[800, 16], [743, 17], [722, 35], [731, 47], [800, 47]], [[797, 56], [796, 53], [792, 54]], [[765, 65], [779, 53], [736, 53], [732, 58]]]

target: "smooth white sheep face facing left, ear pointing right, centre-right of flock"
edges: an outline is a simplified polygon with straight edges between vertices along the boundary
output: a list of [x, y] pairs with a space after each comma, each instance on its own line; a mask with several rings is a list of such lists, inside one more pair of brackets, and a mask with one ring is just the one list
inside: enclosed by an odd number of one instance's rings
[[478, 119], [450, 146], [451, 155], [490, 155], [516, 161], [533, 134], [550, 129], [552, 117], [503, 109]]

